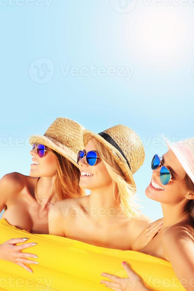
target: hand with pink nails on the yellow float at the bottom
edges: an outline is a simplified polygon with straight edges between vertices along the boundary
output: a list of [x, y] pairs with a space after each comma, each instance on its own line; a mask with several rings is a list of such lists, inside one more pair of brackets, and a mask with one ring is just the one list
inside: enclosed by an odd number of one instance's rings
[[128, 263], [122, 262], [123, 268], [125, 269], [128, 277], [120, 278], [108, 273], [101, 273], [102, 276], [112, 280], [102, 280], [101, 284], [106, 284], [106, 287], [111, 288], [115, 291], [144, 291], [151, 290], [144, 286], [143, 281], [137, 276], [129, 267]]

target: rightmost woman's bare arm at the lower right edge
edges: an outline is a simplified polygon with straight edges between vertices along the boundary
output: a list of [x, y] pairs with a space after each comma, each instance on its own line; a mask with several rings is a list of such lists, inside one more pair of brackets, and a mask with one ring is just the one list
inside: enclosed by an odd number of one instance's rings
[[187, 291], [194, 290], [194, 229], [169, 227], [163, 235], [163, 248], [172, 268]]

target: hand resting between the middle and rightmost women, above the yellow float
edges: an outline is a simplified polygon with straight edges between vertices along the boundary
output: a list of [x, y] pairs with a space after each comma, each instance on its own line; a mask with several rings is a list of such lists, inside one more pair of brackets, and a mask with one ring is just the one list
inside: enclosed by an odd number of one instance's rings
[[136, 240], [132, 243], [132, 251], [139, 252], [140, 249], [143, 249], [152, 238], [158, 233], [163, 225], [163, 218], [160, 218], [150, 224], [138, 235]]

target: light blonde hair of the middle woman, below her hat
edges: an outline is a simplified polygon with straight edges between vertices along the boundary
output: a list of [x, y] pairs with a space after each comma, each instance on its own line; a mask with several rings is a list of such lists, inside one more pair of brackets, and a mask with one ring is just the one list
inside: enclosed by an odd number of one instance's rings
[[91, 137], [90, 139], [92, 139], [91, 142], [93, 145], [96, 146], [98, 155], [112, 178], [114, 200], [120, 204], [123, 212], [128, 217], [139, 216], [139, 212], [137, 211], [138, 205], [134, 202], [134, 200], [138, 200], [134, 197], [136, 189], [125, 181], [123, 172], [106, 147], [95, 137]]

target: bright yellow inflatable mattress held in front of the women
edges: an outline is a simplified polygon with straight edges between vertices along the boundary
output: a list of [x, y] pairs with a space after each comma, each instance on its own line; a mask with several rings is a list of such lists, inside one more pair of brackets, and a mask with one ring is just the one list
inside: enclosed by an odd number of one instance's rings
[[[30, 264], [33, 274], [17, 264], [0, 260], [0, 290], [97, 291], [108, 290], [100, 281], [102, 272], [126, 277], [127, 261], [152, 290], [185, 290], [170, 262], [147, 254], [107, 249], [55, 235], [31, 234], [0, 220], [0, 243], [10, 238], [29, 238], [36, 246], [23, 252], [36, 254], [39, 264]], [[110, 289], [109, 289], [110, 290]]]

